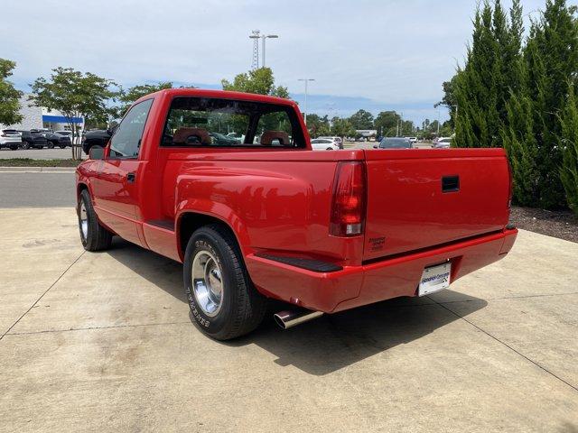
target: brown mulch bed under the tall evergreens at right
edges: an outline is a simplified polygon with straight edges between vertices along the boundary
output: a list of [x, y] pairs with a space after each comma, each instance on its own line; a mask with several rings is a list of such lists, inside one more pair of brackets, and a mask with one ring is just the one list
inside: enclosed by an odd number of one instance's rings
[[513, 206], [509, 220], [517, 228], [578, 243], [578, 218], [569, 210]]

